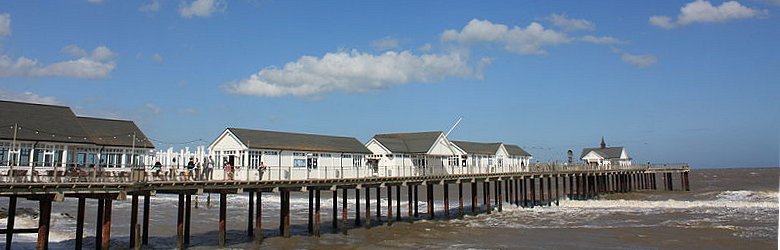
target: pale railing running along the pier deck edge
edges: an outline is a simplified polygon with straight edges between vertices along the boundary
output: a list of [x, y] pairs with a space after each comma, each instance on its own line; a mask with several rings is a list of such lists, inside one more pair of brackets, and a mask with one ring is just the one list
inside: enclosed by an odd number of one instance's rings
[[492, 173], [587, 172], [630, 170], [682, 170], [686, 163], [633, 164], [630, 166], [593, 166], [587, 164], [533, 163], [530, 166], [378, 166], [319, 168], [269, 166], [234, 167], [233, 171], [217, 167], [188, 170], [186, 166], [91, 166], [62, 168], [53, 166], [0, 166], [0, 182], [5, 183], [71, 183], [71, 182], [155, 182], [155, 181], [276, 181], [328, 180], [345, 178], [417, 177]]

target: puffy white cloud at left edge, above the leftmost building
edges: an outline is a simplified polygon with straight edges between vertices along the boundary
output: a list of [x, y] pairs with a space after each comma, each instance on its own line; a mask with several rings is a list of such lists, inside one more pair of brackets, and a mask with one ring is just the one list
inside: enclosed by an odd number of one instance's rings
[[78, 57], [73, 60], [43, 65], [27, 57], [16, 59], [0, 55], [0, 77], [74, 77], [98, 79], [108, 76], [116, 67], [113, 58], [117, 55], [108, 47], [99, 46], [87, 52], [78, 46], [68, 45], [63, 53]]

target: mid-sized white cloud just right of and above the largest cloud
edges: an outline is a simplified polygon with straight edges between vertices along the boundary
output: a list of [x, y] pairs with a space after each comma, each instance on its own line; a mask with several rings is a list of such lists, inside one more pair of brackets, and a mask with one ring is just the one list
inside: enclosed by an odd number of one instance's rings
[[525, 29], [509, 29], [503, 24], [494, 24], [487, 20], [471, 20], [463, 29], [444, 31], [442, 41], [460, 43], [492, 42], [504, 46], [504, 49], [526, 55], [546, 54], [544, 46], [568, 43], [571, 39], [565, 33], [545, 29], [539, 23], [532, 22]]

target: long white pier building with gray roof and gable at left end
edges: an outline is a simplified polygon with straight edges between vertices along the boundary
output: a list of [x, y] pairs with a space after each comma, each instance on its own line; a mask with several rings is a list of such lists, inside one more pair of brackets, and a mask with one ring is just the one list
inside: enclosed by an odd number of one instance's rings
[[227, 128], [208, 147], [224, 178], [226, 164], [238, 167], [236, 180], [257, 180], [262, 163], [263, 180], [364, 177], [371, 151], [353, 137]]

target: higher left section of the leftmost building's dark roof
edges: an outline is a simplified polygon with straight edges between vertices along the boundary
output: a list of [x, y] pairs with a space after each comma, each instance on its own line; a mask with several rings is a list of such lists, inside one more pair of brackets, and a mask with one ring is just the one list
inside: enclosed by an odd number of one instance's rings
[[68, 107], [0, 101], [0, 139], [92, 144]]

